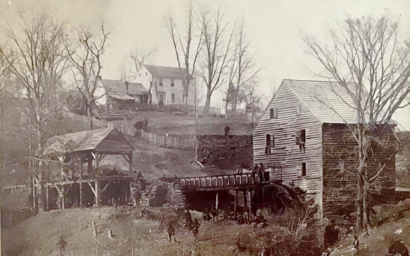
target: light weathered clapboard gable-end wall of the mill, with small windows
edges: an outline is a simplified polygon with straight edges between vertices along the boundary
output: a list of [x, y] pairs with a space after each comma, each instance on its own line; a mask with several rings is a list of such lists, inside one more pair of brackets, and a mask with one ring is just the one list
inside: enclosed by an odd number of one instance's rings
[[[297, 104], [301, 104], [300, 116], [296, 114]], [[276, 119], [270, 118], [271, 108], [278, 109]], [[295, 132], [301, 129], [306, 131], [305, 151], [300, 150], [296, 144]], [[268, 156], [265, 155], [267, 134], [275, 136], [275, 146], [271, 148], [271, 155]], [[289, 86], [282, 84], [252, 135], [255, 164], [281, 166], [284, 184], [300, 187], [308, 193], [322, 191], [321, 123]], [[297, 166], [303, 162], [306, 163], [306, 176], [298, 177]]]

